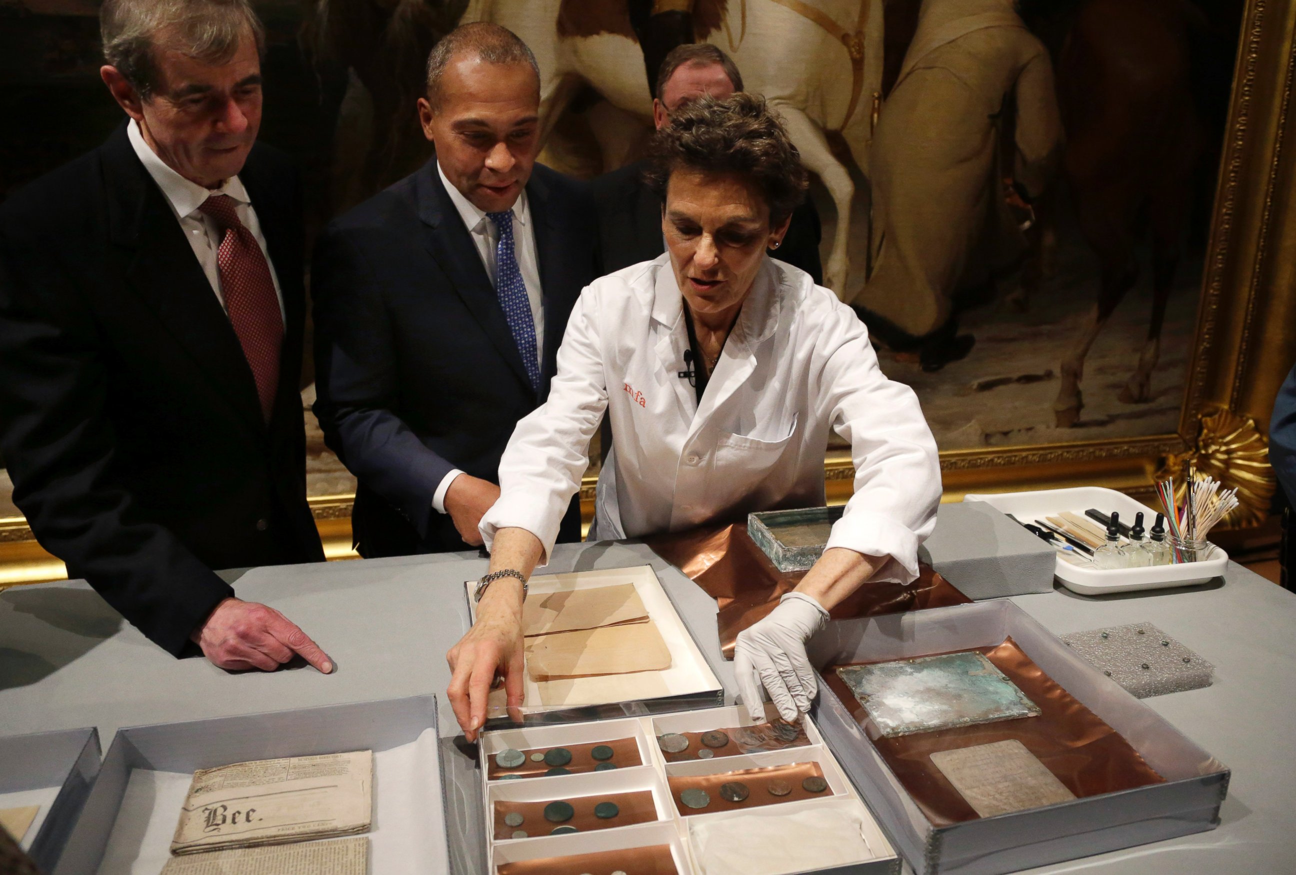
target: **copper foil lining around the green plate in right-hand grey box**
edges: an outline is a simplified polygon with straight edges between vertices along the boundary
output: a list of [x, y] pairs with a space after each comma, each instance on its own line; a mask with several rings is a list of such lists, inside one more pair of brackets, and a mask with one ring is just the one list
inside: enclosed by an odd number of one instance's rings
[[1164, 781], [1129, 742], [1045, 674], [1012, 638], [976, 652], [985, 654], [1007, 674], [1039, 707], [1041, 714], [883, 738], [868, 712], [837, 677], [837, 667], [829, 667], [823, 673], [828, 687], [859, 721], [883, 760], [933, 826], [977, 819], [977, 813], [932, 762], [931, 755], [937, 751], [1017, 739], [1077, 797]]

